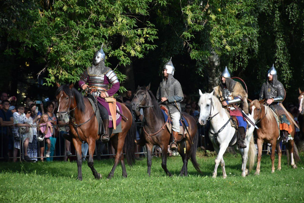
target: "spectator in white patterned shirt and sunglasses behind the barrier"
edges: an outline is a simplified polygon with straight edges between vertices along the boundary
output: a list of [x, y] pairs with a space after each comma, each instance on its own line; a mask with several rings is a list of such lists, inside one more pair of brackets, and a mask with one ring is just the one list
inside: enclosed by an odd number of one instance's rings
[[[26, 133], [21, 136], [21, 134], [19, 133], [19, 128], [20, 127], [24, 127], [24, 126], [31, 127], [31, 125], [25, 123], [26, 122], [26, 115], [24, 113], [24, 110], [25, 110], [24, 106], [23, 105], [18, 105], [17, 106], [17, 110], [18, 111], [13, 114], [13, 119], [14, 119], [14, 124], [15, 124], [15, 126], [13, 128], [13, 135], [14, 135], [14, 157], [17, 156], [18, 150], [21, 149], [20, 148], [20, 139], [22, 137], [22, 143], [24, 143], [23, 146], [24, 146], [24, 149], [25, 149], [25, 151], [24, 151], [24, 155], [25, 155], [24, 156], [24, 160], [27, 161], [27, 160], [29, 160], [29, 157], [27, 156], [27, 146], [29, 144], [29, 139], [28, 139], [27, 135], [25, 135]], [[14, 158], [13, 162], [16, 162], [16, 160], [17, 159]]]

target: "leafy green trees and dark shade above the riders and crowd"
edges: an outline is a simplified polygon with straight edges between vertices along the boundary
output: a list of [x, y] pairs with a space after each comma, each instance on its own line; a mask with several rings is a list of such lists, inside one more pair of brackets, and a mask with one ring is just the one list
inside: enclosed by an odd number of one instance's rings
[[289, 96], [303, 83], [301, 0], [3, 0], [0, 5], [4, 82], [12, 81], [14, 70], [32, 79], [40, 73], [47, 86], [77, 82], [104, 43], [106, 65], [121, 82], [134, 74], [136, 86], [147, 81], [157, 86], [155, 77], [170, 57], [190, 94], [210, 90], [225, 66], [244, 79], [250, 98], [257, 98], [273, 63]]

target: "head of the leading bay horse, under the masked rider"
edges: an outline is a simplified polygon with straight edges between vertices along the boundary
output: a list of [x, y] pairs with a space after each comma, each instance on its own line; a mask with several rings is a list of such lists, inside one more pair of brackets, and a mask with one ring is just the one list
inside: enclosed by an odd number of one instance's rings
[[59, 121], [63, 121], [65, 116], [69, 116], [71, 109], [76, 108], [76, 104], [74, 104], [74, 84], [71, 85], [60, 85], [57, 83], [57, 91], [56, 91], [56, 99], [58, 101], [58, 112], [57, 112], [57, 119]]

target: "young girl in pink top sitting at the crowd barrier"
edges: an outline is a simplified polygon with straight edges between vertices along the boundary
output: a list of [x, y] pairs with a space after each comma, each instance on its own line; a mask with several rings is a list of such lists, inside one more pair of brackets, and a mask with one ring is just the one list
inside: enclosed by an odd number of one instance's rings
[[[51, 141], [50, 137], [52, 136], [51, 132], [53, 132], [52, 124], [48, 122], [47, 114], [43, 114], [39, 121], [40, 131], [44, 134], [44, 140], [47, 143], [47, 155], [46, 157], [50, 157], [50, 149], [51, 149]], [[44, 145], [43, 141], [39, 142], [40, 146], [40, 156], [43, 155]], [[41, 150], [42, 149], [42, 150]]]

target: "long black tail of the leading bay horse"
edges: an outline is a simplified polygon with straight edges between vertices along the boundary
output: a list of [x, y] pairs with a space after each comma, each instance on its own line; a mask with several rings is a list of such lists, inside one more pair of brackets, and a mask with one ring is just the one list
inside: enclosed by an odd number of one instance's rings
[[126, 105], [126, 107], [131, 112], [132, 124], [131, 124], [131, 128], [127, 132], [125, 138], [125, 144], [123, 145], [123, 151], [126, 154], [126, 159], [129, 166], [132, 166], [135, 163], [135, 160], [137, 159], [137, 157], [135, 156], [135, 142], [134, 142], [134, 138], [136, 137], [136, 124], [135, 124], [135, 118], [133, 116], [132, 108], [129, 105]]

